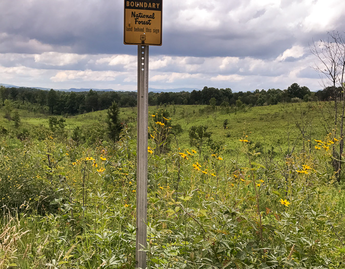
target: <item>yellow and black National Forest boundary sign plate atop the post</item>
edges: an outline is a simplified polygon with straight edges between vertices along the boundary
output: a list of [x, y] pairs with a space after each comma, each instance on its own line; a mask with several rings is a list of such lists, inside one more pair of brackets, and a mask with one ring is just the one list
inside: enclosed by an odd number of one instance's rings
[[162, 45], [162, 0], [125, 0], [123, 43]]

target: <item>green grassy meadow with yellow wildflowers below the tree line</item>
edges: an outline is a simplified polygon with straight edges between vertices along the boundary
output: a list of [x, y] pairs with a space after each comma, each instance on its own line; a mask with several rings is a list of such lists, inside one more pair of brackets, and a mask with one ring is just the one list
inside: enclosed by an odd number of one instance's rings
[[[339, 137], [317, 108], [150, 107], [148, 268], [345, 267]], [[5, 114], [0, 268], [134, 268], [136, 108], [116, 143], [106, 111]]]

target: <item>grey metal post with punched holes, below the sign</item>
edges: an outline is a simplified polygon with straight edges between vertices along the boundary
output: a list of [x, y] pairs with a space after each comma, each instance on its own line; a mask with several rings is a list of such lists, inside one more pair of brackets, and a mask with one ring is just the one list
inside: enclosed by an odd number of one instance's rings
[[138, 46], [137, 235], [136, 268], [146, 268], [148, 46]]

